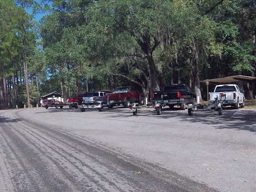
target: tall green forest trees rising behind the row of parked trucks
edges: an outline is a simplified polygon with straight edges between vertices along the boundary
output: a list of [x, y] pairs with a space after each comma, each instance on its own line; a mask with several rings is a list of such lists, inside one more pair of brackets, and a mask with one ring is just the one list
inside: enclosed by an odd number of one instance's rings
[[[0, 0], [1, 108], [123, 85], [148, 98], [171, 83], [202, 100], [201, 80], [256, 72], [252, 0], [38, 2]], [[255, 83], [241, 86], [252, 99]]]

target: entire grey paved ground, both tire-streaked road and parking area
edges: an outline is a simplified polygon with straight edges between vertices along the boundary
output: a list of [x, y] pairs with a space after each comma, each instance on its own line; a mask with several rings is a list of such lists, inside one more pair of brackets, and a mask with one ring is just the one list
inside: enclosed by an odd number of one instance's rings
[[0, 191], [256, 191], [256, 110], [0, 110]]

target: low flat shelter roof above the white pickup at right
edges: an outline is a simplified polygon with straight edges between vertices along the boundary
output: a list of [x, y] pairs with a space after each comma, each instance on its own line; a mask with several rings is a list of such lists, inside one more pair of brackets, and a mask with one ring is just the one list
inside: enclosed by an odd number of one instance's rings
[[[235, 75], [235, 76], [229, 76], [229, 77], [223, 77], [223, 78], [208, 79], [208, 81], [209, 81], [209, 83], [214, 83], [214, 84], [225, 84], [225, 83], [233, 83], [233, 82], [238, 82], [238, 81], [251, 83], [255, 79], [256, 79], [256, 77]], [[206, 83], [206, 79], [203, 81], [200, 81], [200, 82]]]

